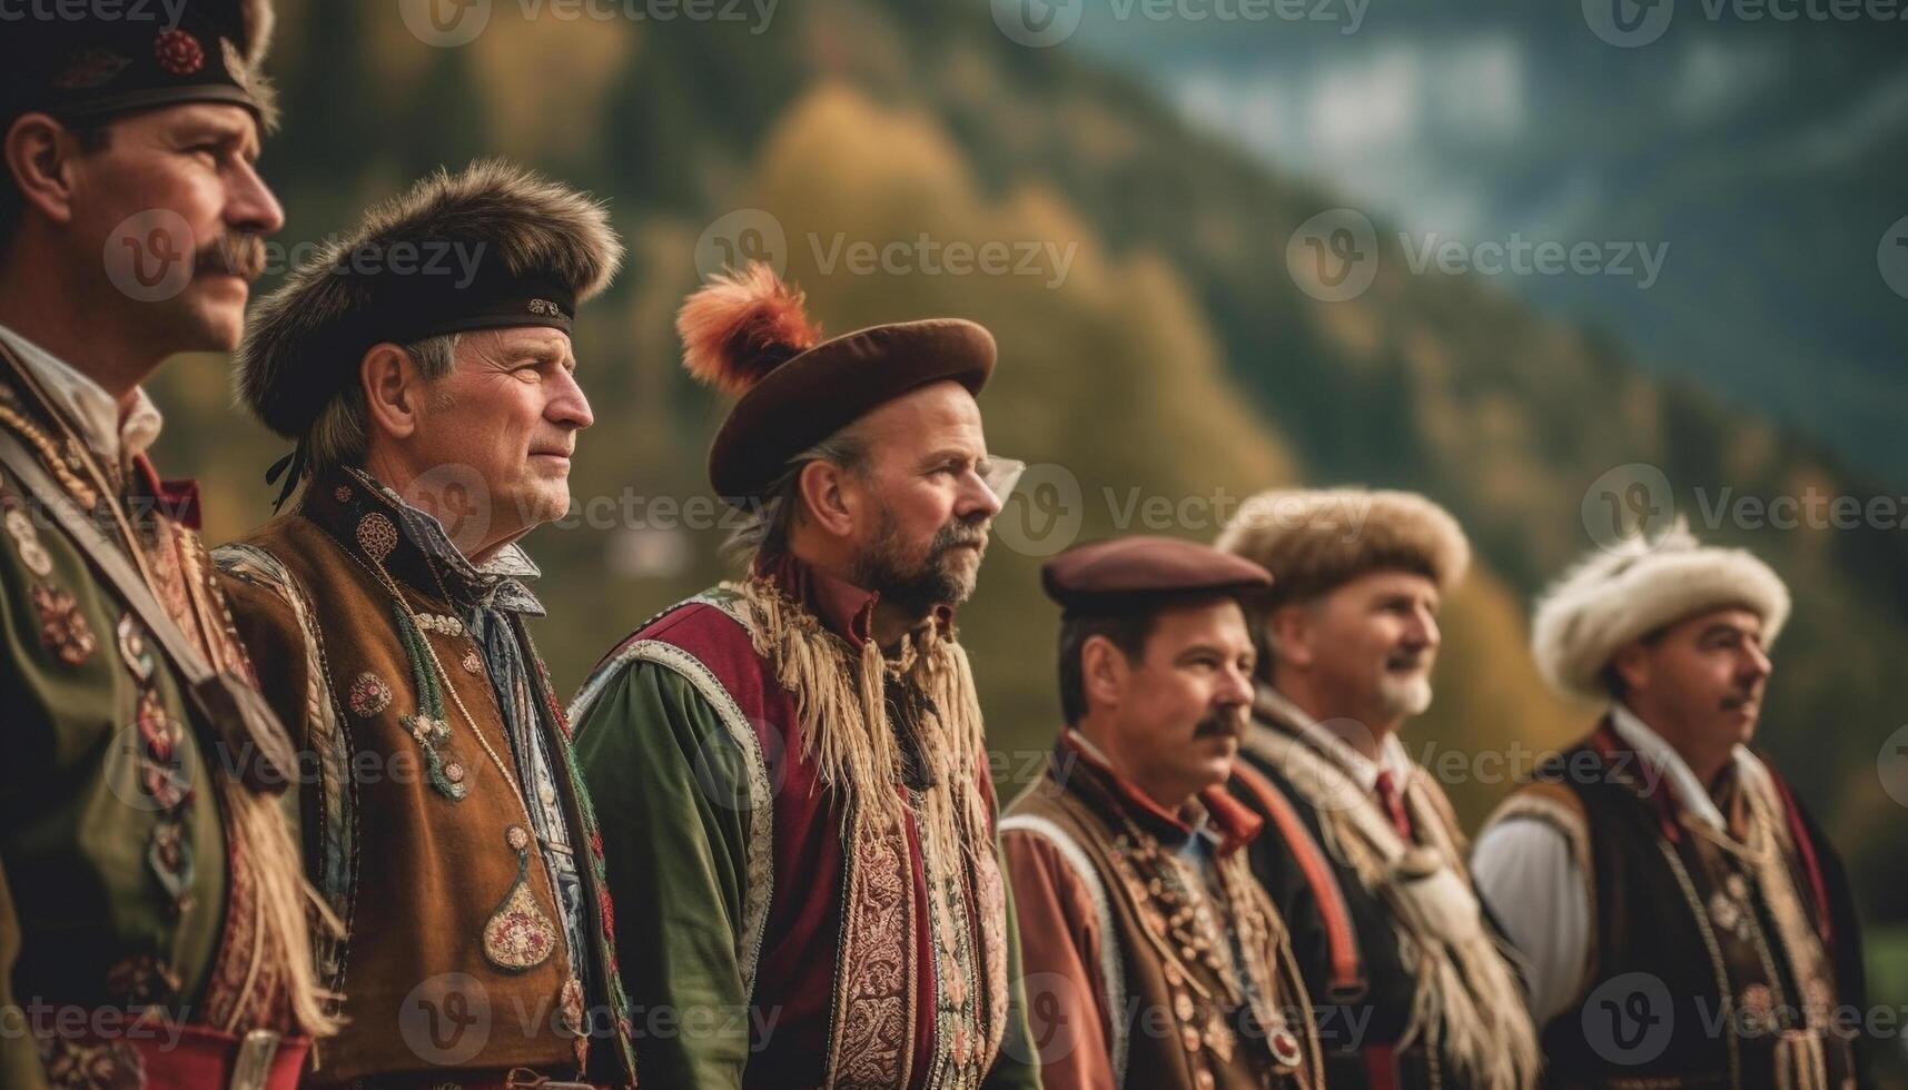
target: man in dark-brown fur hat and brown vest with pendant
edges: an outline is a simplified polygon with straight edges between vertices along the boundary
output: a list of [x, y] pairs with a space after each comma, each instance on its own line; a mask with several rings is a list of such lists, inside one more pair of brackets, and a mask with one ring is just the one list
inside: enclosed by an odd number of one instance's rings
[[[630, 1084], [611, 909], [517, 540], [569, 508], [576, 307], [622, 244], [502, 160], [372, 210], [267, 298], [238, 393], [300, 504], [218, 550], [309, 752], [305, 863], [345, 920], [317, 1086]], [[525, 1014], [529, 1012], [529, 1014]]]

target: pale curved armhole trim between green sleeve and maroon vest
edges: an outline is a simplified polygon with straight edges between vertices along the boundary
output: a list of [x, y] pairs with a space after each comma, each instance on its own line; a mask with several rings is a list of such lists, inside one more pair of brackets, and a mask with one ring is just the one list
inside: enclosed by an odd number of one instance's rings
[[[700, 601], [700, 597], [689, 601]], [[742, 750], [744, 764], [748, 765], [748, 886], [742, 891], [742, 933], [736, 935], [735, 953], [742, 970], [742, 991], [754, 996], [756, 966], [761, 960], [761, 941], [769, 926], [769, 901], [775, 893], [775, 804], [769, 786], [769, 765], [761, 756], [761, 739], [756, 737], [756, 727], [748, 723], [729, 689], [721, 687], [721, 681], [716, 680], [716, 674], [700, 659], [660, 639], [639, 639], [599, 666], [584, 683], [576, 701], [570, 702], [570, 722], [582, 722], [609, 683], [622, 676], [626, 666], [635, 662], [653, 662], [687, 680], [716, 708], [717, 718], [729, 727], [729, 737]]]

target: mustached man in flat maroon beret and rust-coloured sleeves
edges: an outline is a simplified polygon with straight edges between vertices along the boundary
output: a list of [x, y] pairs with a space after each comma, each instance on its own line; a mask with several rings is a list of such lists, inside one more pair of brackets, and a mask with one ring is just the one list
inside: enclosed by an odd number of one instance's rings
[[1000, 823], [1047, 1090], [1322, 1086], [1286, 928], [1252, 876], [1263, 823], [1225, 781], [1265, 569], [1130, 536], [1042, 571], [1067, 725]]

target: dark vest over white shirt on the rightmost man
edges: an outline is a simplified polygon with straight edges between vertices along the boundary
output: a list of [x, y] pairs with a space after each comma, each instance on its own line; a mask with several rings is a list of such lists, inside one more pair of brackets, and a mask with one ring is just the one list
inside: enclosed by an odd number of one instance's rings
[[1584, 806], [1597, 907], [1593, 972], [1544, 1027], [1547, 1084], [1851, 1088], [1784, 800], [1769, 781], [1738, 785], [1744, 848], [1650, 794], [1635, 760], [1605, 727], [1538, 771]]

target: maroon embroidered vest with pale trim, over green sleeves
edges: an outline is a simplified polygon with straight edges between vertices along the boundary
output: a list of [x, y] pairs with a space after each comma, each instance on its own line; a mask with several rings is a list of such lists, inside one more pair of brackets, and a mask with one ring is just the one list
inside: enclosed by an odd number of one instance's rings
[[[1007, 1021], [1007, 907], [992, 844], [965, 859], [925, 849], [922, 792], [948, 785], [897, 783], [908, 827], [851, 836], [851, 806], [803, 754], [796, 695], [756, 653], [727, 588], [643, 624], [597, 666], [572, 716], [633, 662], [689, 680], [748, 769], [750, 798], [736, 800], [750, 815], [736, 960], [752, 1006], [780, 1019], [752, 1042], [744, 1084], [979, 1086]], [[975, 775], [985, 786], [985, 765]]]

